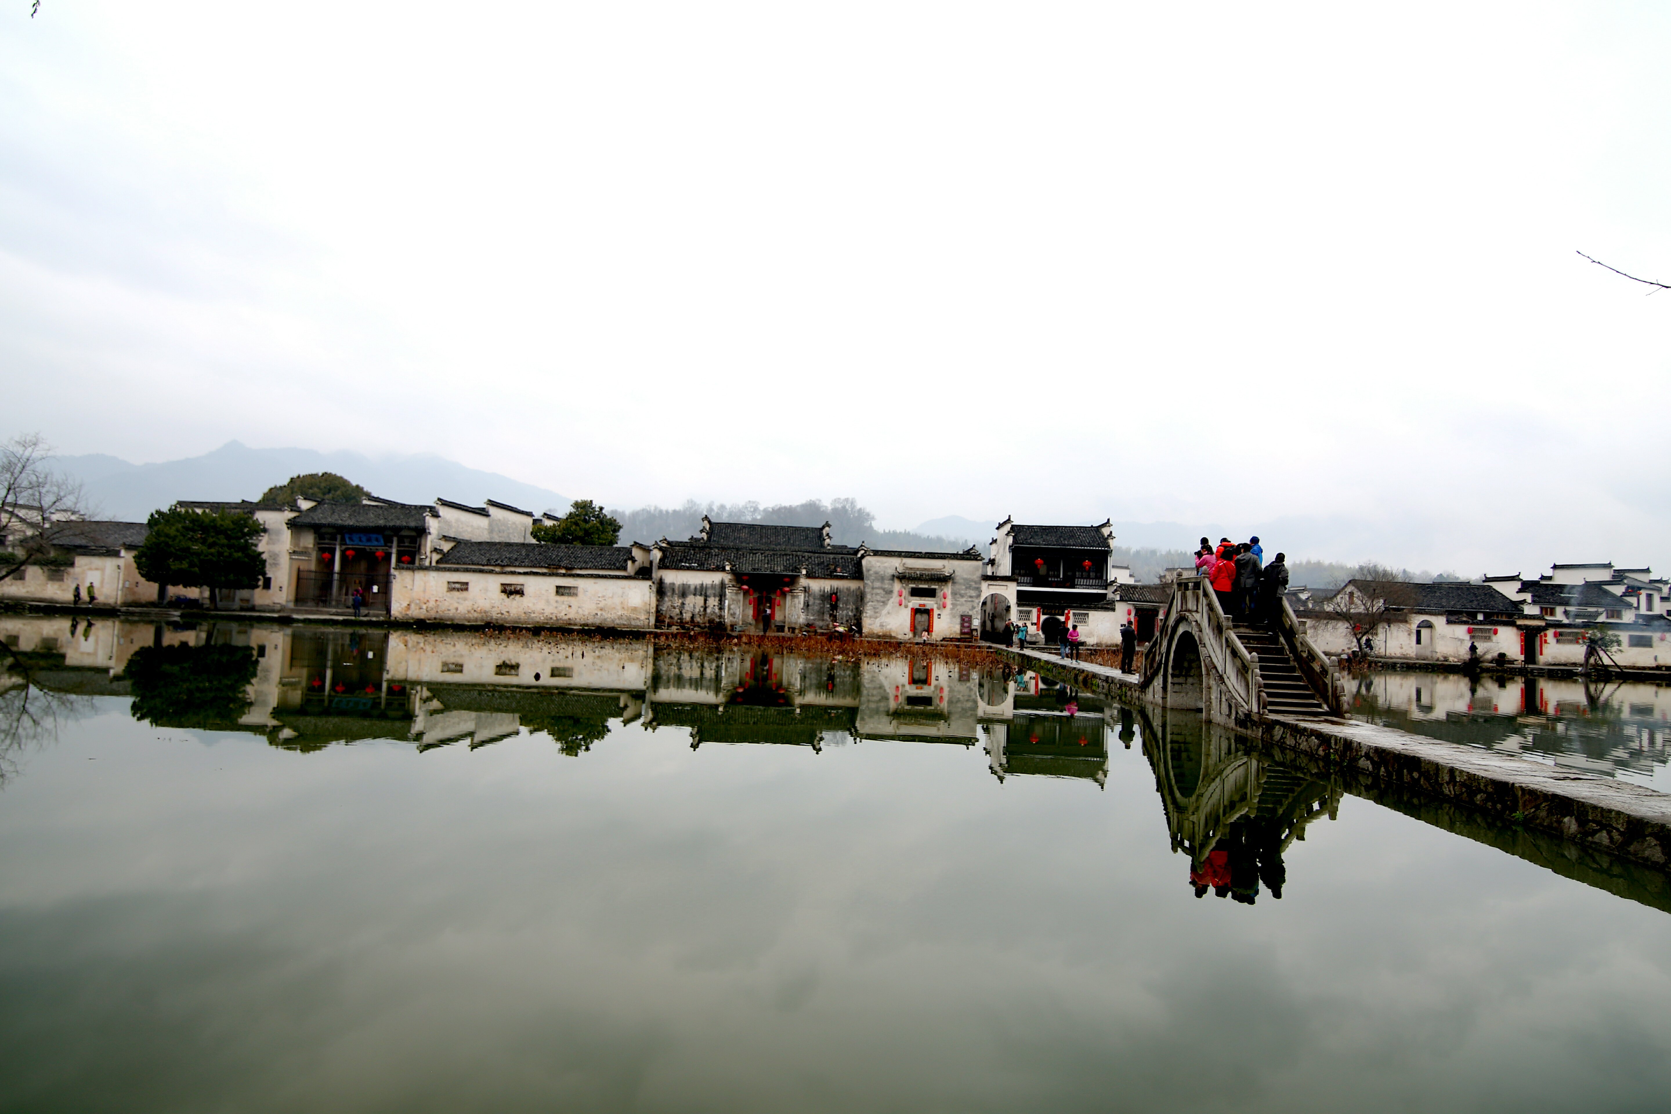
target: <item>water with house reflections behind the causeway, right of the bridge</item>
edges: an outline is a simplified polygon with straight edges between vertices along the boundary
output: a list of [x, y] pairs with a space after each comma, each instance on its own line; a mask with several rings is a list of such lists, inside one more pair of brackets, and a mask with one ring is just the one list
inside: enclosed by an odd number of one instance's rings
[[1589, 773], [1653, 775], [1671, 758], [1671, 690], [1658, 685], [1375, 671], [1347, 700], [1374, 723]]

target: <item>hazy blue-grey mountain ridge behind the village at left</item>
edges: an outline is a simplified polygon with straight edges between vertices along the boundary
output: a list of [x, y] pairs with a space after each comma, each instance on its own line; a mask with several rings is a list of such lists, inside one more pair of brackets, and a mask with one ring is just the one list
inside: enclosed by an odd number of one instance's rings
[[465, 468], [434, 456], [369, 458], [359, 453], [314, 449], [252, 449], [227, 441], [212, 453], [160, 464], [130, 464], [90, 453], [60, 456], [58, 468], [79, 478], [87, 503], [100, 518], [145, 521], [175, 499], [259, 499], [261, 493], [302, 473], [336, 473], [361, 488], [398, 503], [431, 503], [436, 496], [480, 504], [498, 499], [526, 511], [568, 509], [570, 499], [510, 476]]

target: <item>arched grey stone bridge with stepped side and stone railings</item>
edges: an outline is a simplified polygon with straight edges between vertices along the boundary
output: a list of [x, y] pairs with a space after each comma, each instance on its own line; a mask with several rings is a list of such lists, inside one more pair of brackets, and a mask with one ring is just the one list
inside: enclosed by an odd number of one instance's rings
[[1270, 623], [1232, 621], [1201, 576], [1175, 581], [1145, 653], [1143, 695], [1245, 727], [1255, 717], [1337, 717], [1345, 690], [1282, 601]]

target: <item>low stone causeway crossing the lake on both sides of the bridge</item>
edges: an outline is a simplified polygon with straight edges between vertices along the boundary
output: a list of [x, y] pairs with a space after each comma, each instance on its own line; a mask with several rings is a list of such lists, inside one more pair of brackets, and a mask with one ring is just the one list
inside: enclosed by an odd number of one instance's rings
[[[999, 653], [1110, 700], [1150, 705], [1135, 673], [1036, 650]], [[1671, 872], [1668, 793], [1357, 720], [1252, 717], [1240, 730], [1283, 755], [1303, 757], [1313, 768], [1327, 768], [1367, 797], [1384, 790], [1415, 793]]]

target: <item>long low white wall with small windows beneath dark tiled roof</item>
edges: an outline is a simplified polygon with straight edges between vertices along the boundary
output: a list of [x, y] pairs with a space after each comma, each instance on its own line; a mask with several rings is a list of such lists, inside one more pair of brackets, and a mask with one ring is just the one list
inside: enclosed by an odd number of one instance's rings
[[[463, 591], [448, 585], [465, 585]], [[503, 585], [521, 585], [506, 595]], [[570, 588], [573, 595], [558, 595]], [[398, 570], [389, 600], [396, 620], [511, 626], [655, 626], [655, 586], [642, 576], [587, 576], [426, 566]]]

